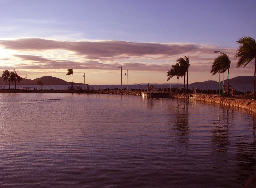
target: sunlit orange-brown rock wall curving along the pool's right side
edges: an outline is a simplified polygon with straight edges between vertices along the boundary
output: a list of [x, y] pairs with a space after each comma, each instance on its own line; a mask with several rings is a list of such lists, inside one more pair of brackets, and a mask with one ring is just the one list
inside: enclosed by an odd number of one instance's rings
[[246, 99], [242, 97], [221, 97], [216, 95], [206, 95], [206, 94], [180, 94], [176, 93], [173, 94], [175, 98], [189, 98], [190, 100], [197, 100], [197, 101], [205, 101], [216, 103], [220, 105], [226, 106], [234, 106], [243, 108], [246, 110], [250, 110], [252, 112], [256, 112], [256, 100], [253, 99]]

